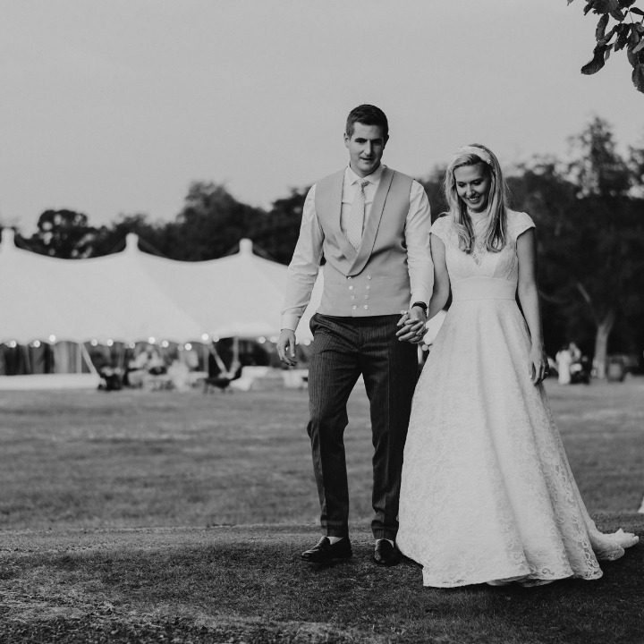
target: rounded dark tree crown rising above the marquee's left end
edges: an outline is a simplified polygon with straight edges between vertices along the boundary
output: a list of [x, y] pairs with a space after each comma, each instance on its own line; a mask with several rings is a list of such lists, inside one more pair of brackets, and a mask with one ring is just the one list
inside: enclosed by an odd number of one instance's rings
[[96, 233], [87, 215], [73, 210], [46, 210], [38, 217], [38, 231], [25, 241], [41, 255], [78, 259], [89, 256]]

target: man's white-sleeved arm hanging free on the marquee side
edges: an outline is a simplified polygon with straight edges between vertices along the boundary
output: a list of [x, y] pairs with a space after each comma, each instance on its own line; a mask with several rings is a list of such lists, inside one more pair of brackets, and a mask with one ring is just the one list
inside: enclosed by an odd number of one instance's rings
[[282, 309], [282, 333], [277, 341], [280, 360], [295, 364], [295, 329], [310, 301], [322, 258], [324, 233], [315, 210], [315, 186], [309, 190], [300, 226], [300, 236], [293, 251], [286, 277], [286, 295]]

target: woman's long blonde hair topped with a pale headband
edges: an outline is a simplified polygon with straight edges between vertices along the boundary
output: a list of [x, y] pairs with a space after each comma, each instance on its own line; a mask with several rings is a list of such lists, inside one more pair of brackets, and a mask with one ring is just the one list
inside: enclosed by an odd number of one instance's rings
[[487, 226], [485, 247], [491, 252], [502, 250], [507, 236], [507, 203], [509, 191], [501, 172], [501, 166], [494, 152], [479, 143], [459, 148], [447, 165], [445, 172], [445, 200], [449, 207], [448, 214], [452, 219], [454, 230], [458, 234], [459, 248], [471, 254], [474, 250], [474, 226], [467, 214], [467, 206], [456, 192], [454, 170], [464, 165], [483, 165], [484, 172], [490, 180], [487, 195]]

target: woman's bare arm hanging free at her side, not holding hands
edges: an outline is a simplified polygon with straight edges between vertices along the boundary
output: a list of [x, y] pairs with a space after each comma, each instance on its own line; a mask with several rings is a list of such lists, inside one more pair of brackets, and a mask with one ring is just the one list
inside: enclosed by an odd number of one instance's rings
[[534, 385], [538, 385], [547, 372], [547, 357], [543, 345], [541, 327], [541, 305], [537, 288], [537, 236], [534, 228], [529, 228], [517, 239], [517, 256], [519, 258], [519, 301], [528, 323], [532, 347], [528, 375]]

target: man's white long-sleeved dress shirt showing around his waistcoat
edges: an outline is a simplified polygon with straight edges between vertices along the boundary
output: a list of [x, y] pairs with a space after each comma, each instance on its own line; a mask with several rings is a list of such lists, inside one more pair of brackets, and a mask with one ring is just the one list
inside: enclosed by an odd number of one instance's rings
[[[365, 186], [365, 225], [369, 220], [371, 204], [376, 196], [385, 165], [380, 164], [376, 172], [366, 177], [359, 177], [351, 166], [344, 171], [343, 200], [340, 216], [340, 227], [346, 231], [346, 223], [352, 211], [353, 198], [360, 181], [369, 181]], [[282, 328], [294, 331], [310, 300], [311, 291], [318, 276], [322, 259], [324, 233], [319, 224], [315, 209], [315, 185], [309, 190], [300, 228], [300, 237], [288, 267], [286, 297], [282, 311]], [[434, 267], [429, 247], [429, 229], [431, 217], [429, 201], [424, 188], [417, 181], [411, 182], [410, 208], [405, 219], [405, 244], [407, 246], [407, 267], [411, 284], [410, 307], [413, 302], [428, 303], [431, 297], [434, 278]]]

